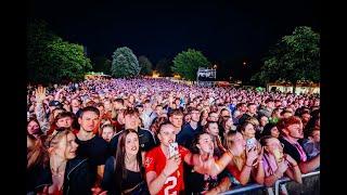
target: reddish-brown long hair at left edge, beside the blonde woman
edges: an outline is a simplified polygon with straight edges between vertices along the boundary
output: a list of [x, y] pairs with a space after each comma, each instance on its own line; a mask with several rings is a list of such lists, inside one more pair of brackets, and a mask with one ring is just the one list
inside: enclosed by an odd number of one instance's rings
[[35, 138], [33, 134], [27, 133], [27, 138], [34, 143], [31, 148], [27, 148], [27, 169], [31, 169], [35, 166], [49, 166], [49, 155], [43, 147], [40, 138]]

